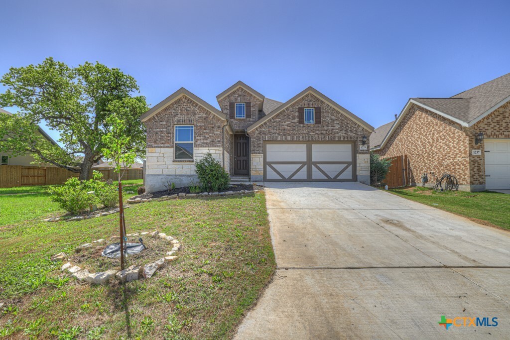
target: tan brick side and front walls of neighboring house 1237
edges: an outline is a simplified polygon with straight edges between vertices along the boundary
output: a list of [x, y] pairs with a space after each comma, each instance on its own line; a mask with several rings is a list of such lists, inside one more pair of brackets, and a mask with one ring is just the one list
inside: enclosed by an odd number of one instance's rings
[[[484, 190], [485, 144], [475, 145], [479, 132], [486, 139], [510, 139], [510, 102], [469, 128], [414, 104], [385, 148], [375, 152], [386, 158], [406, 154], [411, 184], [421, 185], [424, 172], [439, 177], [448, 172], [457, 177], [461, 190]], [[472, 150], [481, 150], [481, 155]], [[429, 176], [429, 184], [435, 183]]]

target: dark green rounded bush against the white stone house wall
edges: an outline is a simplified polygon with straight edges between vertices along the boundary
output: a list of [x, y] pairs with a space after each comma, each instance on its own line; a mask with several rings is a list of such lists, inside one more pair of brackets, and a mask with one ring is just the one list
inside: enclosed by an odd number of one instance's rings
[[195, 168], [203, 191], [224, 191], [230, 186], [230, 176], [212, 154], [206, 153]]

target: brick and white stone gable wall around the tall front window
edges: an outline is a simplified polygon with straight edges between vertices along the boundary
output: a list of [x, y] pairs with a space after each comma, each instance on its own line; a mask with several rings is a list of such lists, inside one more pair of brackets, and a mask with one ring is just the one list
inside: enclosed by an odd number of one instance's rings
[[[182, 96], [165, 109], [144, 122], [147, 128], [147, 152], [145, 188], [147, 192], [165, 190], [174, 182], [176, 187], [189, 186], [191, 180], [198, 182], [194, 161], [174, 161], [174, 125], [194, 126], [194, 160], [206, 152], [222, 162], [222, 120], [187, 96]], [[225, 135], [228, 135], [225, 129]], [[228, 140], [228, 136], [225, 136]], [[230, 155], [225, 148], [225, 163]], [[228, 169], [228, 163], [225, 164]]]

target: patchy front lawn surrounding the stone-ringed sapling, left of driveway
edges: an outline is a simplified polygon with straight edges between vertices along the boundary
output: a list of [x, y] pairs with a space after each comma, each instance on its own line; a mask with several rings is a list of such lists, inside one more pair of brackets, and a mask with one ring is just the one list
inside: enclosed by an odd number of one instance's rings
[[128, 233], [158, 229], [182, 245], [170, 266], [125, 285], [67, 280], [49, 260], [113, 236], [118, 214], [0, 226], [0, 338], [231, 338], [275, 270], [264, 194], [155, 201], [125, 214]]

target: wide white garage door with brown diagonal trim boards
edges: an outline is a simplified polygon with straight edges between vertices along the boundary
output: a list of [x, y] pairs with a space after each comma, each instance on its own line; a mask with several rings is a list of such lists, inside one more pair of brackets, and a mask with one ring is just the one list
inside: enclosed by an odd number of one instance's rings
[[354, 143], [265, 142], [264, 180], [354, 181]]

